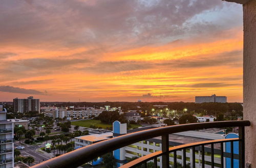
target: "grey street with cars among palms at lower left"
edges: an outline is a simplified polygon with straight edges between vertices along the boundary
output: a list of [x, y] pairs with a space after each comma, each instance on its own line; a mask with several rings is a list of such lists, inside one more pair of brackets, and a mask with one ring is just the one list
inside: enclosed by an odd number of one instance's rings
[[[20, 146], [20, 145], [14, 143], [14, 148], [17, 146]], [[25, 147], [25, 149], [19, 150], [21, 153], [20, 155], [23, 157], [32, 156], [35, 159], [35, 161], [33, 163], [31, 163], [30, 166], [33, 166], [35, 164], [38, 164], [39, 162], [51, 159], [51, 157], [46, 156], [46, 155], [36, 151], [37, 149], [41, 148], [41, 146], [25, 146], [25, 145], [23, 145], [23, 146]]]

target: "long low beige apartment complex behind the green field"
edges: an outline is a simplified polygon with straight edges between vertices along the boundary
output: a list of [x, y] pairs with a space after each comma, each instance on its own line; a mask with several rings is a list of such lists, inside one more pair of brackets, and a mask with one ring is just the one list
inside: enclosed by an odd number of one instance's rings
[[99, 116], [104, 109], [98, 109], [94, 107], [85, 107], [81, 110], [68, 110], [67, 108], [57, 108], [55, 110], [45, 110], [45, 116], [55, 118], [67, 118], [67, 120], [74, 119], [87, 119], [92, 116]]

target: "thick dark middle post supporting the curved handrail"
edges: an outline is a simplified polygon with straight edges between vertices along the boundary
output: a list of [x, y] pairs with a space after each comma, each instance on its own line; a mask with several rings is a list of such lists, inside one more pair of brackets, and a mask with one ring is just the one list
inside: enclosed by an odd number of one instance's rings
[[162, 167], [169, 168], [169, 134], [162, 136], [162, 152], [165, 152], [162, 156]]

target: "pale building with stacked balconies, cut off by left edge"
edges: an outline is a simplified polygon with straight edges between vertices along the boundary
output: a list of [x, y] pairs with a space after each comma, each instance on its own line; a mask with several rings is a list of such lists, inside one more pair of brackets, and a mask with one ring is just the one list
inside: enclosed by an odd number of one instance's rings
[[13, 123], [6, 120], [7, 110], [0, 104], [0, 167], [14, 167]]

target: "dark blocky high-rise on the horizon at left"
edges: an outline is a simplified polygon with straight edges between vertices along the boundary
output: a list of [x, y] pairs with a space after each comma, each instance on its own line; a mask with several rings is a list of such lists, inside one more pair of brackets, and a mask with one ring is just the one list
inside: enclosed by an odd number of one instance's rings
[[28, 111], [40, 112], [40, 99], [34, 99], [33, 96], [27, 99], [13, 99], [14, 113], [24, 113]]

